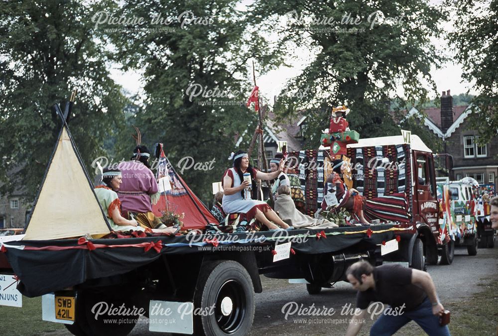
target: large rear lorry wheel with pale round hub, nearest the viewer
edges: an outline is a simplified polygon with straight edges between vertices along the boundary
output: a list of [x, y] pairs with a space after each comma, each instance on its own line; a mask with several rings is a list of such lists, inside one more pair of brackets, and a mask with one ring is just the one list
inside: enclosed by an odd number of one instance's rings
[[[210, 307], [213, 307], [212, 310]], [[232, 260], [204, 264], [194, 293], [194, 334], [248, 335], [254, 320], [255, 297], [247, 270]]]

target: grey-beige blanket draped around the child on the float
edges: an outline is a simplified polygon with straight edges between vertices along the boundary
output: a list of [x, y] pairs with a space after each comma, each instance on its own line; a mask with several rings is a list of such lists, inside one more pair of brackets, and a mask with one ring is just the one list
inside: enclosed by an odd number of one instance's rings
[[319, 220], [304, 215], [296, 209], [292, 197], [286, 194], [280, 194], [277, 196], [275, 201], [275, 211], [278, 213], [278, 216], [282, 219], [282, 221], [296, 228], [306, 227], [315, 229], [338, 226], [335, 223], [329, 222], [325, 219]]

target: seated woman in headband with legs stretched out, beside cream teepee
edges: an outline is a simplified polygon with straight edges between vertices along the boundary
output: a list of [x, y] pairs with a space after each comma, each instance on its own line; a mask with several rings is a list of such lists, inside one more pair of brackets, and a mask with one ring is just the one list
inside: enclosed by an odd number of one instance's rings
[[[132, 219], [127, 220], [121, 215], [121, 202], [116, 193], [122, 183], [122, 174], [119, 169], [104, 169], [102, 175], [102, 184], [95, 187], [95, 195], [107, 216], [111, 228], [115, 231], [144, 231], [145, 229], [138, 225]], [[176, 233], [177, 228], [168, 227], [166, 229], [152, 229], [152, 232]]]

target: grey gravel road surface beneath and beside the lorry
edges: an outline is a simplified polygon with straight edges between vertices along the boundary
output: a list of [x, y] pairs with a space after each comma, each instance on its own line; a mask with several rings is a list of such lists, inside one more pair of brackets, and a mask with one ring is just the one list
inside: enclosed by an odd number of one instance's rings
[[[452, 303], [464, 301], [472, 294], [481, 290], [480, 284], [485, 284], [487, 279], [496, 276], [498, 269], [498, 248], [479, 249], [476, 256], [468, 256], [467, 249], [457, 248], [455, 259], [451, 265], [428, 266], [427, 271], [436, 284], [441, 302], [446, 309], [452, 311]], [[256, 313], [250, 331], [251, 336], [276, 336], [276, 335], [344, 335], [347, 323], [341, 316], [345, 305], [355, 306], [356, 292], [346, 282], [339, 282], [332, 289], [324, 289], [321, 294], [309, 295], [304, 284], [289, 284], [286, 280], [268, 279], [261, 276], [263, 292], [256, 294]], [[290, 302], [303, 307], [314, 304], [316, 308], [334, 308], [335, 314], [331, 316], [298, 316], [289, 315], [287, 320], [282, 313], [282, 307]], [[288, 306], [287, 306], [288, 307]], [[454, 310], [453, 310], [454, 311]], [[309, 321], [312, 319], [312, 321]], [[376, 317], [367, 319], [360, 335], [369, 335], [369, 329]], [[450, 331], [452, 326], [450, 324]], [[48, 333], [46, 335], [70, 335], [67, 331]], [[146, 319], [131, 332], [132, 336], [169, 335], [152, 333], [148, 331]], [[413, 322], [403, 327], [396, 335], [418, 336], [425, 335]]]

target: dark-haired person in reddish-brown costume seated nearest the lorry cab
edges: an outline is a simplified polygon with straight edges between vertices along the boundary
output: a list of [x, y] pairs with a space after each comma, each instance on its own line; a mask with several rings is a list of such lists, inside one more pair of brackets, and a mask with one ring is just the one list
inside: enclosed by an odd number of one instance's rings
[[[365, 198], [360, 195], [358, 190], [348, 187], [344, 183], [344, 169], [346, 165], [343, 160], [332, 161], [333, 173], [327, 178], [327, 183], [335, 184], [337, 208], [345, 208], [347, 211], [357, 216], [362, 224], [370, 224], [363, 215], [363, 208], [365, 206]], [[327, 209], [325, 200], [322, 202], [322, 209]]]

